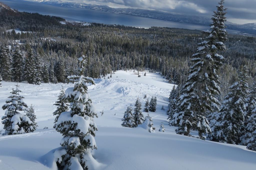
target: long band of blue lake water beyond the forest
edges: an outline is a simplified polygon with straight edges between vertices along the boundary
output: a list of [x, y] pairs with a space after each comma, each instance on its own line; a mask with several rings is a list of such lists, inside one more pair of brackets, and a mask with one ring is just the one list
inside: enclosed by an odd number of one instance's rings
[[[103, 11], [96, 11], [82, 8], [63, 7], [58, 5], [42, 4], [37, 2], [21, 1], [21, 0], [1, 0], [4, 4], [19, 11], [31, 13], [39, 13], [43, 15], [52, 15], [65, 18], [72, 21], [97, 22], [105, 24], [119, 24], [133, 27], [150, 28], [171, 27], [185, 28], [191, 30], [207, 30], [210, 27], [187, 24], [181, 22], [165, 21], [151, 18], [144, 18], [131, 15], [115, 14]], [[237, 33], [239, 31], [227, 30], [229, 33]]]

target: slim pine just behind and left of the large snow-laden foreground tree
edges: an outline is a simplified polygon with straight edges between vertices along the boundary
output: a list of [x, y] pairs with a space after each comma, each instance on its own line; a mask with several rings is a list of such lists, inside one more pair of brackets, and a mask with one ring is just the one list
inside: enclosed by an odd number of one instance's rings
[[60, 94], [58, 96], [58, 100], [54, 104], [57, 106], [57, 109], [53, 112], [53, 115], [55, 115], [55, 121], [53, 128], [56, 128], [56, 123], [58, 122], [58, 118], [62, 112], [67, 112], [69, 108], [68, 100], [65, 98], [65, 90], [64, 87], [61, 87]]

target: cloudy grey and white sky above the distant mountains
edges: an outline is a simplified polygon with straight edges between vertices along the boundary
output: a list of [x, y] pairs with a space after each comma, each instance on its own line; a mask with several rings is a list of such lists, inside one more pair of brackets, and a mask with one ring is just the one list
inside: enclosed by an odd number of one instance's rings
[[[66, 0], [87, 4], [108, 5], [114, 8], [146, 8], [181, 14], [210, 17], [219, 0]], [[226, 0], [228, 21], [234, 23], [256, 22], [256, 0]]]

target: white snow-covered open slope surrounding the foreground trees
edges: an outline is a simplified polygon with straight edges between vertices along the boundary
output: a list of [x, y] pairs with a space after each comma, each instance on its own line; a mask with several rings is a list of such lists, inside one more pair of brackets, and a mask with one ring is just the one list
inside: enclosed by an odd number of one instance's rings
[[[136, 74], [136, 71], [135, 71]], [[256, 152], [245, 146], [223, 144], [177, 135], [175, 127], [168, 126], [167, 110], [169, 92], [173, 84], [167, 83], [157, 73], [141, 73], [141, 77], [131, 71], [117, 71], [112, 78], [96, 79], [96, 85], [89, 86], [89, 93], [98, 111], [95, 118], [97, 150], [93, 157], [99, 164], [88, 163], [95, 170], [131, 169], [255, 169]], [[7, 99], [15, 86], [14, 82], [2, 82], [0, 105]], [[19, 83], [24, 101], [33, 104], [36, 111], [38, 129], [33, 133], [0, 136], [0, 169], [55, 169], [52, 162], [55, 148], [60, 147], [61, 135], [53, 128], [55, 117], [52, 112], [61, 86], [73, 84], [33, 85]], [[125, 128], [121, 126], [126, 107], [135, 103], [137, 97], [144, 106], [144, 94], [157, 97], [157, 110], [150, 113], [156, 127], [150, 133], [142, 127]], [[162, 105], [165, 111], [161, 110]], [[144, 108], [144, 107], [143, 107]], [[100, 116], [100, 111], [104, 115]], [[145, 112], [143, 112], [146, 115]], [[115, 115], [116, 114], [116, 115]], [[0, 111], [0, 116], [4, 111]], [[163, 122], [166, 132], [158, 132]], [[49, 129], [44, 130], [47, 126]], [[0, 129], [3, 125], [0, 124]]]

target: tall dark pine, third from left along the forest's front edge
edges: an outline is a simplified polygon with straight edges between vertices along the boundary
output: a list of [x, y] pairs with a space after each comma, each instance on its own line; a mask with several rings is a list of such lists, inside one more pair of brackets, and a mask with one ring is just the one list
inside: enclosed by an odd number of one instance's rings
[[33, 50], [29, 44], [26, 45], [26, 58], [25, 58], [25, 79], [29, 84], [35, 84], [36, 82], [36, 63], [34, 60]]

